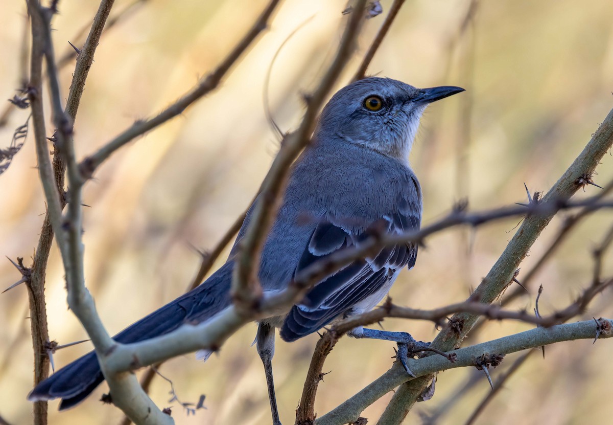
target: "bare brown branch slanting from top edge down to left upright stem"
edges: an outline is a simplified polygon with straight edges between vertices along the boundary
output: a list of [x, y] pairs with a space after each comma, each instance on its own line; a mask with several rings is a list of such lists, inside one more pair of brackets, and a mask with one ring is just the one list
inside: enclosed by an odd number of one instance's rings
[[279, 2], [280, 0], [271, 0], [268, 3], [268, 6], [266, 6], [264, 12], [262, 12], [260, 17], [257, 18], [255, 25], [249, 29], [245, 37], [243, 37], [232, 52], [227, 55], [227, 57], [213, 72], [208, 74], [208, 76], [204, 79], [200, 80], [196, 87], [192, 88], [188, 93], [183, 95], [180, 99], [175, 101], [175, 103], [164, 109], [164, 111], [160, 112], [155, 117], [148, 120], [139, 120], [135, 122], [131, 127], [123, 131], [123, 133], [102, 146], [99, 150], [97, 150], [97, 152], [86, 157], [80, 164], [80, 170], [83, 177], [91, 177], [96, 168], [102, 162], [107, 160], [107, 158], [109, 158], [110, 155], [115, 152], [115, 150], [120, 149], [120, 147], [124, 146], [132, 139], [147, 133], [147, 131], [153, 130], [153, 128], [158, 127], [162, 123], [176, 117], [177, 115], [182, 114], [188, 106], [214, 90], [229, 69], [232, 68], [232, 65], [234, 65], [238, 58], [240, 58], [245, 50], [247, 50], [249, 45], [251, 45], [256, 37], [267, 28], [268, 20]]

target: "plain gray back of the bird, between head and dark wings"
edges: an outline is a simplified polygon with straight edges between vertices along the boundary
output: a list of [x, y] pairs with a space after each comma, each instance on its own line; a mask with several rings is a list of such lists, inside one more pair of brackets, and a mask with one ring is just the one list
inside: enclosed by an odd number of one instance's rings
[[[254, 205], [261, 201], [258, 197]], [[245, 235], [253, 208], [231, 256]], [[351, 233], [360, 233], [398, 211], [421, 217], [421, 190], [406, 163], [340, 138], [314, 140], [291, 168], [283, 203], [262, 251], [262, 287], [287, 286], [322, 221], [333, 220]]]

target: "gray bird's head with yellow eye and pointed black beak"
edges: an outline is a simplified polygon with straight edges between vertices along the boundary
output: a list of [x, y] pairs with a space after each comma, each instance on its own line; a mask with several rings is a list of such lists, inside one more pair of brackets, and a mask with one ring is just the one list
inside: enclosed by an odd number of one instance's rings
[[315, 136], [319, 141], [336, 136], [406, 160], [426, 106], [463, 91], [452, 86], [416, 88], [379, 77], [359, 80], [332, 96]]

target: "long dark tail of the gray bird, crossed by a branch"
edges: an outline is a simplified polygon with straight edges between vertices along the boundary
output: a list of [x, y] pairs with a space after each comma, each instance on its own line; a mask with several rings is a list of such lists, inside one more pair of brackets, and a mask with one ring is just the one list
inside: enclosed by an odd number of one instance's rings
[[[224, 264], [205, 283], [122, 330], [115, 340], [120, 343], [148, 340], [171, 332], [186, 321], [204, 322], [224, 310], [232, 302], [232, 265]], [[96, 353], [91, 351], [39, 383], [28, 400], [61, 398], [59, 410], [65, 410], [82, 402], [102, 381], [104, 376]]]

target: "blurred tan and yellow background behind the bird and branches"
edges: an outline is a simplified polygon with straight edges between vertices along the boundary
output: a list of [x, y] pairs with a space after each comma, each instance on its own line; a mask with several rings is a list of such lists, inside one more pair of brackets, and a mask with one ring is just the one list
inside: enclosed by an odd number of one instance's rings
[[[75, 123], [78, 157], [102, 146], [134, 120], [169, 105], [216, 66], [251, 26], [264, 0], [136, 2], [101, 40]], [[117, 0], [120, 12], [131, 2]], [[384, 14], [390, 0], [381, 4]], [[221, 87], [183, 115], [137, 139], [104, 163], [85, 187], [86, 283], [102, 319], [115, 333], [182, 294], [196, 274], [200, 257], [192, 246], [210, 249], [249, 205], [279, 141], [265, 118], [263, 87], [272, 58], [268, 107], [283, 130], [300, 122], [301, 94], [308, 93], [337, 49], [345, 19], [345, 0], [286, 0], [270, 29], [226, 77]], [[53, 19], [57, 56], [68, 41], [88, 28], [97, 2], [60, 2]], [[113, 14], [112, 14], [113, 15]], [[352, 77], [383, 22], [368, 20], [359, 51], [337, 88]], [[403, 80], [417, 87], [460, 85], [466, 93], [436, 103], [426, 111], [414, 144], [411, 164], [424, 189], [424, 223], [446, 214], [468, 198], [470, 208], [487, 209], [525, 202], [531, 192], [546, 191], [581, 152], [613, 106], [613, 4], [593, 0], [540, 1], [409, 0], [369, 68], [370, 74]], [[11, 98], [20, 85], [20, 44], [25, 25], [21, 0], [4, 0], [0, 14], [0, 98]], [[74, 61], [61, 69], [64, 98]], [[4, 107], [4, 106], [2, 106]], [[0, 127], [0, 145], [28, 111], [13, 112]], [[48, 128], [51, 126], [49, 125]], [[49, 130], [51, 133], [51, 130]], [[51, 147], [50, 147], [51, 149]], [[606, 155], [595, 182], [613, 178], [613, 158]], [[36, 247], [45, 212], [30, 135], [9, 169], [0, 176], [0, 254], [25, 257]], [[593, 186], [577, 198], [598, 192]], [[524, 261], [527, 271], [562, 224], [556, 217]], [[439, 233], [421, 249], [417, 265], [392, 289], [394, 302], [435, 308], [460, 302], [485, 276], [519, 219], [479, 228]], [[513, 308], [531, 311], [539, 284], [544, 286], [542, 314], [568, 305], [592, 278], [592, 249], [611, 227], [610, 212], [584, 220], [554, 259], [532, 282], [529, 294]], [[227, 254], [224, 254], [227, 255]], [[224, 255], [219, 260], [223, 262]], [[612, 256], [604, 275], [611, 275]], [[51, 252], [47, 273], [50, 337], [60, 344], [87, 338], [66, 308], [61, 259]], [[20, 279], [8, 260], [0, 261], [0, 290]], [[521, 280], [522, 275], [519, 275]], [[596, 298], [581, 319], [611, 318], [611, 291]], [[10, 424], [31, 423], [25, 397], [32, 386], [32, 348], [26, 288], [0, 295], [0, 415]], [[407, 330], [432, 340], [430, 322], [386, 320], [387, 330]], [[490, 340], [530, 329], [516, 322], [492, 322], [466, 343]], [[175, 384], [183, 402], [205, 394], [207, 410], [187, 416], [168, 402], [169, 384], [157, 379], [151, 397], [173, 406], [178, 424], [270, 423], [265, 378], [255, 348], [256, 326], [245, 326], [205, 364], [194, 356], [167, 362], [161, 372]], [[274, 359], [281, 420], [294, 422], [308, 362], [318, 336], [295, 343], [278, 340]], [[343, 338], [327, 359], [325, 383], [316, 411], [323, 415], [362, 389], [391, 365], [393, 344]], [[83, 343], [58, 351], [56, 367], [91, 349]], [[507, 356], [492, 371], [495, 380], [521, 354]], [[602, 394], [613, 390], [611, 342], [574, 341], [535, 353], [514, 375], [477, 423], [608, 424]], [[470, 391], [461, 385], [479, 374]], [[489, 384], [482, 372], [456, 369], [440, 373], [435, 397], [416, 405], [407, 423], [428, 415], [436, 423], [463, 423]], [[51, 424], [118, 423], [120, 410], [97, 400], [105, 384], [82, 405], [58, 413], [50, 402]], [[376, 418], [391, 394], [362, 416]], [[449, 400], [452, 400], [451, 404]], [[441, 411], [443, 409], [444, 411]]]

